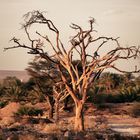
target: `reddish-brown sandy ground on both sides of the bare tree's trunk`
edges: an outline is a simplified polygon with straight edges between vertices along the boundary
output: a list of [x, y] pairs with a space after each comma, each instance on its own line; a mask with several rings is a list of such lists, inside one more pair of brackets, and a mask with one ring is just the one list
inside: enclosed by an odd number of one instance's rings
[[[111, 104], [109, 108], [97, 109], [92, 104], [87, 104], [85, 111], [86, 131], [107, 131], [112, 130], [123, 135], [137, 135], [140, 137], [140, 116], [131, 116], [131, 110], [134, 103]], [[30, 106], [30, 105], [29, 105]], [[45, 109], [46, 104], [37, 104], [37, 108]], [[14, 133], [33, 134], [40, 137], [49, 133], [63, 133], [72, 130], [74, 125], [74, 112], [60, 112], [60, 121], [51, 123], [46, 119], [47, 112], [43, 116], [15, 118], [13, 112], [16, 112], [20, 104], [10, 103], [5, 108], [0, 109], [0, 133], [6, 133], [8, 137]], [[29, 138], [31, 139], [31, 138]]]

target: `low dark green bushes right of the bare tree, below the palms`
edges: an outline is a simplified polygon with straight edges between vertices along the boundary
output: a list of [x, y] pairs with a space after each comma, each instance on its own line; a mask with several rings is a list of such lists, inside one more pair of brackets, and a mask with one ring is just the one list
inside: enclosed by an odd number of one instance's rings
[[133, 102], [140, 101], [140, 87], [128, 87], [123, 88], [118, 93], [97, 93], [93, 94], [90, 92], [89, 94], [89, 102], [93, 102], [95, 104], [102, 103], [124, 103], [124, 102]]

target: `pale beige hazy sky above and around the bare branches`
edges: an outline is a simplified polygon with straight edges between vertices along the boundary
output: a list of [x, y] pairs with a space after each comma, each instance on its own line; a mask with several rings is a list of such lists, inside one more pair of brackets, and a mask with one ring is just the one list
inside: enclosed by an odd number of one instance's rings
[[94, 17], [101, 35], [119, 36], [124, 46], [140, 45], [140, 0], [0, 0], [1, 70], [23, 70], [32, 58], [23, 49], [3, 52], [13, 36], [24, 38], [20, 23], [32, 10], [47, 11], [63, 36], [69, 35], [72, 22], [84, 27]]

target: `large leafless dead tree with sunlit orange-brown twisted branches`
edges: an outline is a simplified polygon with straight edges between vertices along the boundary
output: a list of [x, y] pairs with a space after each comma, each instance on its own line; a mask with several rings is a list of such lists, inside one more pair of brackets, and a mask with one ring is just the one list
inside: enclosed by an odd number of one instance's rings
[[[113, 68], [119, 72], [125, 72], [119, 69], [115, 62], [118, 60], [126, 60], [135, 58], [140, 54], [139, 47], [121, 47], [118, 38], [112, 37], [95, 37], [96, 31], [94, 30], [94, 19], [89, 20], [89, 29], [84, 30], [77, 24], [72, 24], [70, 27], [76, 31], [76, 34], [70, 39], [70, 46], [64, 47], [60, 39], [60, 32], [54, 25], [52, 20], [47, 19], [43, 13], [39, 11], [29, 12], [25, 15], [25, 24], [23, 29], [30, 41], [30, 45], [25, 45], [20, 42], [17, 38], [13, 38], [12, 41], [15, 46], [5, 48], [25, 48], [28, 49], [30, 54], [38, 54], [46, 61], [51, 61], [57, 66], [57, 71], [60, 73], [61, 80], [65, 86], [65, 89], [70, 94], [75, 103], [75, 130], [84, 130], [84, 114], [83, 107], [87, 99], [87, 90], [90, 84], [96, 81], [100, 74], [108, 68]], [[41, 39], [32, 39], [29, 32], [32, 25], [46, 25], [48, 29], [54, 33], [55, 40], [51, 41], [48, 34], [42, 35], [38, 31], [36, 34]], [[47, 44], [47, 49], [45, 45]], [[104, 55], [99, 55], [99, 50], [106, 46], [108, 42], [114, 42], [116, 47], [106, 52]], [[114, 44], [113, 43], [113, 44]], [[96, 47], [94, 47], [96, 46]], [[87, 50], [90, 47], [90, 54]], [[49, 54], [47, 50], [52, 49]], [[75, 55], [82, 63], [82, 73], [79, 73], [77, 65], [73, 65], [72, 61], [75, 59]], [[62, 69], [65, 69], [67, 75], [70, 77], [70, 81]], [[140, 72], [135, 69], [130, 73]]]

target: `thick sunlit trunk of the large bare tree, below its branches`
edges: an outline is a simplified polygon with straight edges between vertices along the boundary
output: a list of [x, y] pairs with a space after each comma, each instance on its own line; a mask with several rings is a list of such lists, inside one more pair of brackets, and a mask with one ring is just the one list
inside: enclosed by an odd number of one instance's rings
[[84, 103], [82, 101], [78, 101], [75, 105], [75, 131], [84, 131], [84, 115], [83, 115], [83, 107]]

